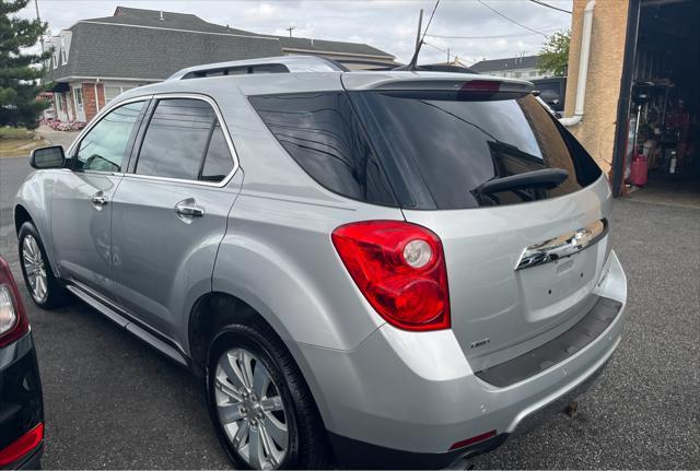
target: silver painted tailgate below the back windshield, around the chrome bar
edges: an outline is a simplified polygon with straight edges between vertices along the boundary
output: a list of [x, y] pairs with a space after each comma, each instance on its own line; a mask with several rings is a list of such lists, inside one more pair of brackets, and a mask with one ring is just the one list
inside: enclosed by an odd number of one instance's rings
[[[607, 237], [560, 260], [515, 270], [523, 250], [605, 219], [604, 176], [574, 193], [485, 209], [407, 211], [443, 243], [452, 329], [475, 370], [528, 352], [578, 322], [607, 256]], [[526, 211], [526, 212], [524, 212]]]

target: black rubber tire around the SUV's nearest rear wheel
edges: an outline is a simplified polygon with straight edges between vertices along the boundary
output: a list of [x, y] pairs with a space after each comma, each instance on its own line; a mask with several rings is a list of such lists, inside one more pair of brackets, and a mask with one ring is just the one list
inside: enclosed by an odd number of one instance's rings
[[[279, 337], [262, 322], [231, 325], [212, 341], [207, 365], [207, 403], [217, 435], [236, 469], [252, 469], [229, 439], [217, 412], [214, 379], [221, 355], [242, 348], [261, 361], [282, 398], [288, 449], [278, 469], [328, 469], [331, 452], [316, 403], [296, 363]], [[289, 413], [288, 413], [289, 411]]]

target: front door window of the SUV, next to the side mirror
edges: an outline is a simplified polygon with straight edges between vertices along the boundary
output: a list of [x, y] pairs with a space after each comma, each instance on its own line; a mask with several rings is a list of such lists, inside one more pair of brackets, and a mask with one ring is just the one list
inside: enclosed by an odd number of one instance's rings
[[129, 103], [112, 110], [80, 142], [73, 168], [120, 172], [127, 145], [145, 102]]

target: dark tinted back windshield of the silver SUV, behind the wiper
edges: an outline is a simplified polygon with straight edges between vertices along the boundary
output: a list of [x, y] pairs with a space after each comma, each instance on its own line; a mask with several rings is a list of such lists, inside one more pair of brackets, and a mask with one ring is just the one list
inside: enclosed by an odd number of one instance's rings
[[[401, 205], [463, 209], [512, 204], [571, 193], [600, 170], [533, 97], [463, 99], [455, 93], [355, 92], [377, 152], [405, 180]], [[553, 189], [485, 192], [481, 186], [530, 170], [563, 168]], [[397, 186], [397, 185], [395, 185]]]

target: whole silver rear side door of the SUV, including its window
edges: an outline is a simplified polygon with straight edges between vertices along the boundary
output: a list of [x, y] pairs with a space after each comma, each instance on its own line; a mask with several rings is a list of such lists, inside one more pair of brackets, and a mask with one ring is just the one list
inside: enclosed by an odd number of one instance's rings
[[176, 339], [174, 318], [211, 290], [240, 190], [235, 152], [213, 101], [156, 97], [138, 158], [114, 198], [114, 270], [122, 306]]

